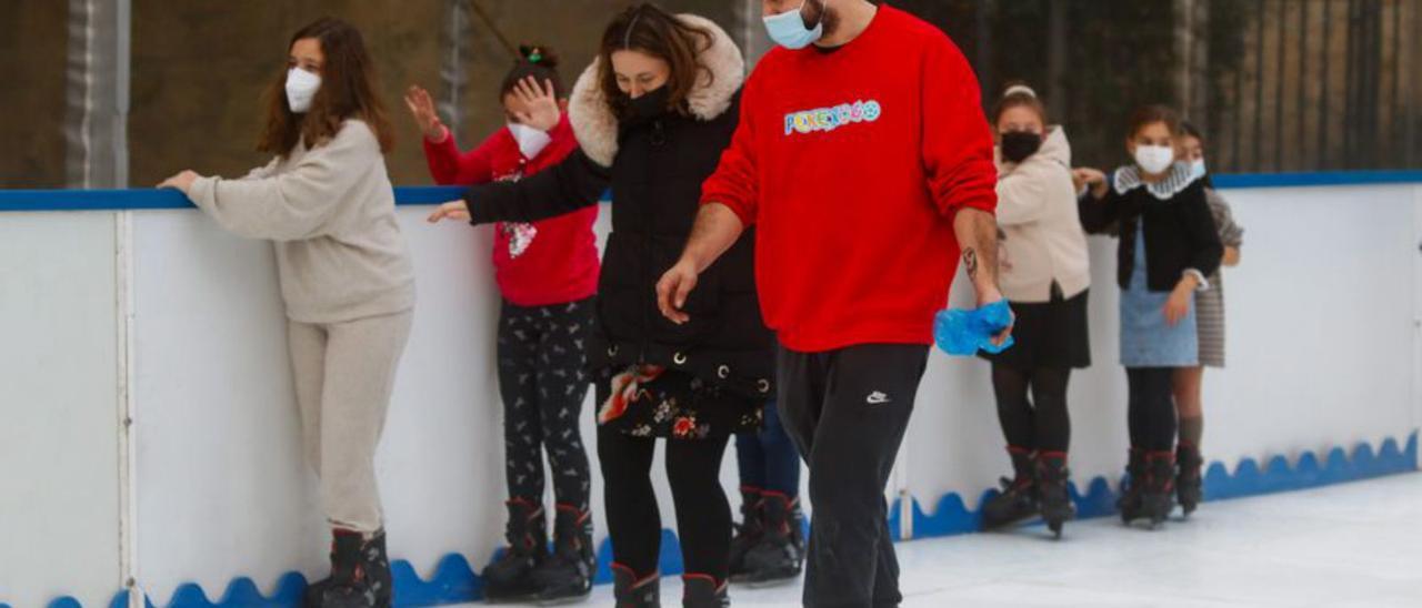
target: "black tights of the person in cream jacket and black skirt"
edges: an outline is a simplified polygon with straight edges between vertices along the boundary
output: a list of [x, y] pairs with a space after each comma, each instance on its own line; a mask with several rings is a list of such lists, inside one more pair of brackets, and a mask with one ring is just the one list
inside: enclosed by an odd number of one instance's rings
[[1066, 452], [1071, 445], [1071, 415], [1066, 412], [1069, 381], [1071, 369], [1066, 368], [1027, 372], [993, 365], [997, 419], [1008, 445], [1030, 452]]

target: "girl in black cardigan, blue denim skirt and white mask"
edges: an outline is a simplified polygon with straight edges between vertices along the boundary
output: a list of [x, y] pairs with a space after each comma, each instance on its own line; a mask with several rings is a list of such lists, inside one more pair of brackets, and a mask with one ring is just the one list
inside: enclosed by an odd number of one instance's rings
[[1199, 362], [1194, 293], [1220, 266], [1223, 247], [1190, 165], [1176, 162], [1180, 119], [1148, 107], [1130, 119], [1126, 151], [1133, 165], [1111, 178], [1078, 169], [1091, 192], [1079, 203], [1091, 233], [1115, 227], [1121, 284], [1121, 364], [1129, 382], [1130, 484], [1121, 519], [1149, 519], [1152, 527], [1175, 507], [1175, 369]]

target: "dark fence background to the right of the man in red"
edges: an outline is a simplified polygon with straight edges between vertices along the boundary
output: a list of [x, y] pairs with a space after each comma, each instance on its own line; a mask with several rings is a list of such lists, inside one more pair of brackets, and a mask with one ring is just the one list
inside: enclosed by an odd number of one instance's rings
[[984, 101], [1024, 80], [1086, 163], [1143, 104], [1180, 108], [1220, 172], [1422, 166], [1419, 0], [897, 0], [943, 26]]

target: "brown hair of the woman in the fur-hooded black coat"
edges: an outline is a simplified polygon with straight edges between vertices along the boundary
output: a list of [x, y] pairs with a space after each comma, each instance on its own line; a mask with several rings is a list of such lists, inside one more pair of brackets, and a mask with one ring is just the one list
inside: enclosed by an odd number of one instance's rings
[[714, 43], [715, 37], [710, 31], [687, 24], [657, 4], [636, 4], [619, 14], [603, 31], [603, 43], [597, 51], [602, 60], [599, 78], [603, 95], [611, 104], [614, 114], [626, 116], [627, 94], [617, 88], [613, 53], [637, 51], [657, 57], [671, 67], [671, 78], [667, 80], [668, 109], [685, 114], [687, 98], [691, 97], [701, 75], [715, 78], [700, 58]]

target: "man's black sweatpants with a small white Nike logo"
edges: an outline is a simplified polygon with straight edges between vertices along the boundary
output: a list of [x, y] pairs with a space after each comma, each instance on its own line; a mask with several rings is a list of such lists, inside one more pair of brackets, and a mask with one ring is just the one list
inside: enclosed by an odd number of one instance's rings
[[809, 465], [806, 607], [894, 607], [884, 486], [929, 362], [921, 345], [778, 354], [785, 430]]

